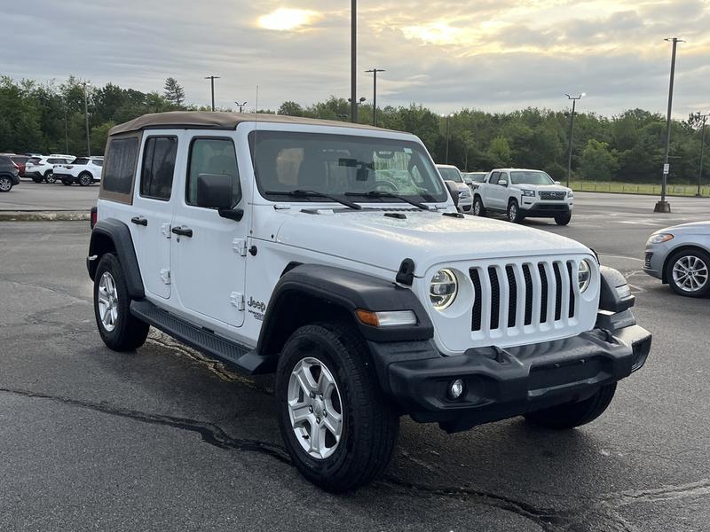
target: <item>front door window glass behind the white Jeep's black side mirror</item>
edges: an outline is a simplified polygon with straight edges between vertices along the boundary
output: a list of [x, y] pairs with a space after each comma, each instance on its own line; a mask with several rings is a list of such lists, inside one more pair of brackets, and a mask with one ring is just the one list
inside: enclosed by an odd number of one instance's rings
[[185, 203], [197, 206], [197, 178], [201, 174], [225, 176], [232, 182], [232, 207], [241, 201], [237, 154], [230, 138], [195, 138], [190, 145], [190, 161], [185, 184]]

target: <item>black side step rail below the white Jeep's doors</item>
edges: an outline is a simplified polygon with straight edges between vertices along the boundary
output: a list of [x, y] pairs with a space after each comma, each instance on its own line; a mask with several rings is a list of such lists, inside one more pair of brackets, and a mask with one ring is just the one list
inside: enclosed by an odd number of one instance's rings
[[[138, 319], [153, 325], [156, 329], [170, 334], [188, 346], [199, 349], [202, 353], [221, 362], [230, 364], [249, 375], [264, 372], [264, 356], [256, 349], [217, 336], [214, 332], [187, 323], [184, 319], [173, 316], [159, 309], [150, 301], [130, 301], [130, 313]], [[262, 371], [259, 371], [259, 370]]]

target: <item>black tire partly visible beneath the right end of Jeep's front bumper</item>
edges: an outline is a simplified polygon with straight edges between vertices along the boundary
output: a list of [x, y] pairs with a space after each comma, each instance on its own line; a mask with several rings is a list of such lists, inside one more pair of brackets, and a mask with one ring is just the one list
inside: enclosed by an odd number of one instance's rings
[[586, 425], [601, 416], [611, 403], [616, 392], [616, 382], [599, 388], [592, 395], [579, 403], [566, 403], [540, 411], [528, 412], [525, 419], [547, 428], [574, 428]]

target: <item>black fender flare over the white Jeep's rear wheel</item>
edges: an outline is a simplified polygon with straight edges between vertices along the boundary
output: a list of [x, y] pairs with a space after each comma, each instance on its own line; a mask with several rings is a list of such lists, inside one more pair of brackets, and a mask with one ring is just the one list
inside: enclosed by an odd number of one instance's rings
[[140, 276], [136, 249], [130, 237], [128, 225], [115, 218], [106, 218], [94, 225], [89, 243], [89, 258], [86, 261], [91, 280], [96, 275], [101, 255], [114, 252], [126, 276], [126, 287], [131, 299], [143, 299], [146, 291], [143, 287], [143, 278]]

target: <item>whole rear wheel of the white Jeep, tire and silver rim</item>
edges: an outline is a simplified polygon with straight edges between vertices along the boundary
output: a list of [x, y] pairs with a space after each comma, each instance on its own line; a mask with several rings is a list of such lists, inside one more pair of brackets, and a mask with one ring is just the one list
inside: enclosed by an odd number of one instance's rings
[[114, 351], [132, 351], [146, 341], [150, 326], [130, 314], [121, 262], [112, 253], [101, 257], [94, 278], [94, 315], [101, 340]]

